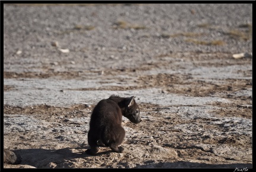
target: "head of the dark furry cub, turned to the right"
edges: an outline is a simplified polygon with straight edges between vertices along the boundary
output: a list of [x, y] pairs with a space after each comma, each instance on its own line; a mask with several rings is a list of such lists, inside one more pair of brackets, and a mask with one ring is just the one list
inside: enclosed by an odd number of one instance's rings
[[123, 116], [128, 118], [131, 122], [138, 124], [142, 121], [140, 117], [139, 106], [135, 102], [135, 96], [126, 98], [125, 100], [125, 111]]

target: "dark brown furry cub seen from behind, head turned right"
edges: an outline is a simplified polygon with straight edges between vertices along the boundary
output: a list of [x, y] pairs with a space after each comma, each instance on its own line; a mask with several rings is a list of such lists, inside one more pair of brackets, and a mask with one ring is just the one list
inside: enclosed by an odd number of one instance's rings
[[119, 147], [125, 135], [121, 126], [122, 116], [135, 124], [142, 121], [135, 96], [120, 98], [112, 95], [98, 102], [89, 123], [88, 144], [91, 148], [86, 151], [87, 154], [96, 154], [100, 146], [110, 147], [114, 152], [123, 152], [123, 147]]

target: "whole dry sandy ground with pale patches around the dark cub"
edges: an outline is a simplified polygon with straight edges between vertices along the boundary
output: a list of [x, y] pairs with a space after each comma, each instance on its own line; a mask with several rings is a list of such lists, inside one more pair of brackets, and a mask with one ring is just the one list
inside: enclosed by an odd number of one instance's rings
[[[4, 168], [252, 168], [252, 58], [232, 57], [252, 51], [251, 11], [5, 4], [4, 148], [23, 160]], [[123, 117], [123, 153], [87, 155], [113, 94], [142, 122]]]

